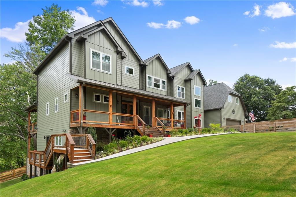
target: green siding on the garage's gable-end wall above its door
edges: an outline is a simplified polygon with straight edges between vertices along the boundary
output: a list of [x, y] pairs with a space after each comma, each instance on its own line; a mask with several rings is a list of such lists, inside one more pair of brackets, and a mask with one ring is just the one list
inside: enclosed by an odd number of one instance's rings
[[[241, 100], [239, 100], [239, 105], [235, 103], [235, 95], [231, 95], [231, 101], [228, 102], [228, 99], [226, 100], [224, 104], [224, 108], [221, 109], [222, 112], [222, 125], [221, 126], [226, 126], [226, 118], [233, 119], [233, 120], [238, 120], [241, 121], [242, 125], [244, 125], [244, 109], [242, 107]], [[232, 110], [234, 109], [234, 114], [232, 113]], [[225, 120], [223, 119], [225, 117]]]

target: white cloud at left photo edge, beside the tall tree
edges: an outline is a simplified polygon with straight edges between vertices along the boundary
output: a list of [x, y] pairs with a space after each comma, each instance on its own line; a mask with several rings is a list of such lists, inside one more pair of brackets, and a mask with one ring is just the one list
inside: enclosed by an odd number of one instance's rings
[[17, 22], [14, 28], [2, 28], [0, 30], [1, 38], [6, 38], [11, 42], [22, 42], [26, 40], [25, 32], [28, 32], [28, 25], [31, 21]]

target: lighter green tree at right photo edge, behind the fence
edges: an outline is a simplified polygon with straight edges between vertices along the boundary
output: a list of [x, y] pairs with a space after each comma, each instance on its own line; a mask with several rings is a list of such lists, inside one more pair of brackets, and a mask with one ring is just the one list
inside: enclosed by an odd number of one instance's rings
[[278, 120], [296, 117], [296, 86], [287, 87], [271, 101], [268, 109], [268, 120]]

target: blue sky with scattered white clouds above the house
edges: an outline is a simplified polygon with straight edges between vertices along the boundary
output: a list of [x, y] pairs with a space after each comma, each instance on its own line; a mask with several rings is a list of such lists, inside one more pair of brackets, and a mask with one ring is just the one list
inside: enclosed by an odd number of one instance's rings
[[1, 63], [52, 3], [71, 10], [77, 28], [112, 17], [142, 59], [190, 62], [231, 87], [246, 72], [296, 84], [295, 1], [1, 1]]

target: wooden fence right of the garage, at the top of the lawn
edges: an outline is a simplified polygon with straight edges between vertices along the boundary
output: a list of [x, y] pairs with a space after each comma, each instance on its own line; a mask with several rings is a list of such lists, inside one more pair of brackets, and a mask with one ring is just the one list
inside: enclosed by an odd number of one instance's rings
[[244, 125], [234, 125], [223, 127], [225, 129], [234, 129], [241, 132], [279, 132], [279, 131], [296, 131], [296, 118], [281, 119], [274, 121], [251, 122]]

